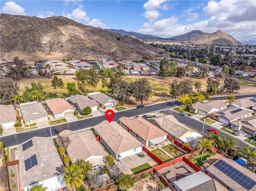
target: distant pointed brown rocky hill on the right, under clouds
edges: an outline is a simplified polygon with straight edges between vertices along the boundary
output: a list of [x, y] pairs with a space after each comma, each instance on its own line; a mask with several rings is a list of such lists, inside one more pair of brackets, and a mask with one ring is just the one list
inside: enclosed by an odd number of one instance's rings
[[224, 33], [221, 30], [218, 30], [214, 33], [203, 33], [196, 39], [192, 40], [194, 43], [198, 44], [208, 44], [208, 45], [243, 45], [232, 36]]

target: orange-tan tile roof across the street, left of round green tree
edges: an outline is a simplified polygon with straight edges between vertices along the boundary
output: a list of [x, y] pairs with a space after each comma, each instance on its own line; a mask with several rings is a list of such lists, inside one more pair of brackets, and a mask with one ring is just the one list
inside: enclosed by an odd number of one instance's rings
[[53, 99], [45, 102], [54, 114], [62, 113], [68, 109], [74, 110], [65, 99]]

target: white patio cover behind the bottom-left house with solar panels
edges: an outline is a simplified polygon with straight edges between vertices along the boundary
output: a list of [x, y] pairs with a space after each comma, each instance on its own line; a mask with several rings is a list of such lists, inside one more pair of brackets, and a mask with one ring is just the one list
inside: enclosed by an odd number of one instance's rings
[[43, 187], [47, 187], [47, 191], [55, 191], [66, 186], [64, 181], [62, 180], [61, 175], [58, 175], [56, 177], [52, 177], [39, 183], [25, 187], [24, 190], [29, 191], [34, 185], [42, 185]]

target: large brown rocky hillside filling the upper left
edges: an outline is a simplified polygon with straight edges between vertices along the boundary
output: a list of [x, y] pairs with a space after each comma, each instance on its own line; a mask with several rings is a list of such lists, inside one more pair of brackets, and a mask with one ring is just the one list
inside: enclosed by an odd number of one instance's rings
[[[120, 40], [118, 40], [118, 37]], [[158, 56], [159, 49], [139, 39], [86, 26], [62, 16], [37, 18], [0, 15], [1, 57], [25, 60], [141, 59]]]

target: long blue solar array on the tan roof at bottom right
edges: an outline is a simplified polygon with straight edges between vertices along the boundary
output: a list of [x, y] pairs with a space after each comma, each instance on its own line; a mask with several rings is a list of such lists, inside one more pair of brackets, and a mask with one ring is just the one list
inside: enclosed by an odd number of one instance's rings
[[256, 185], [256, 182], [254, 180], [241, 173], [240, 171], [236, 170], [234, 167], [221, 159], [214, 163], [214, 167], [225, 173], [228, 177], [232, 178], [234, 181], [239, 183], [247, 190], [252, 189], [252, 187]]

